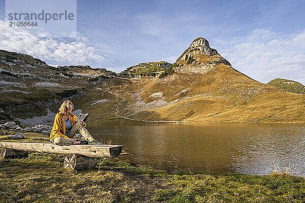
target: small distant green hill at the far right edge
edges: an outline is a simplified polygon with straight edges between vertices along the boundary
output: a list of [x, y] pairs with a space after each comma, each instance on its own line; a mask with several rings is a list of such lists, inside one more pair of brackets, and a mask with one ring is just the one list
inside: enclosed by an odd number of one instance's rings
[[267, 85], [275, 86], [293, 93], [305, 94], [305, 86], [293, 80], [277, 78], [268, 82]]

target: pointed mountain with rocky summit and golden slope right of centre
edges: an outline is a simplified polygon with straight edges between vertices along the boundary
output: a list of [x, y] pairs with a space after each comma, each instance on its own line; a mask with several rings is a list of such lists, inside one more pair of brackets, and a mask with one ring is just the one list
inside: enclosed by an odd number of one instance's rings
[[[191, 43], [173, 70], [174, 74], [163, 79], [132, 84], [141, 91], [130, 95], [137, 111], [129, 117], [149, 121], [305, 122], [305, 96], [281, 91], [236, 71], [204, 38]], [[126, 92], [124, 89], [121, 91]]]

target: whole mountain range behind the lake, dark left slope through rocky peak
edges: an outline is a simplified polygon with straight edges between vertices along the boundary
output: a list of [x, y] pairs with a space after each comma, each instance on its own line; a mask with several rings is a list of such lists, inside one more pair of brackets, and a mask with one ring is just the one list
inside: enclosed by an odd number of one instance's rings
[[[0, 122], [22, 123], [58, 112], [65, 99], [87, 122], [304, 123], [305, 95], [236, 71], [204, 38], [174, 64], [140, 63], [120, 74], [90, 66], [52, 67], [0, 51]], [[137, 80], [135, 80], [137, 78]]]

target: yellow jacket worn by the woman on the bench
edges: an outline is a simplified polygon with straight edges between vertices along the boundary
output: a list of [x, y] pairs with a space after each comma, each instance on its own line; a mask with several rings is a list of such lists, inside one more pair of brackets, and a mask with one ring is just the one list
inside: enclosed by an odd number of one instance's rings
[[[69, 120], [71, 122], [71, 126], [75, 124], [75, 119], [77, 118], [74, 114], [68, 114]], [[66, 133], [66, 123], [64, 120], [64, 115], [62, 113], [57, 113], [55, 115], [53, 128], [50, 134], [50, 140], [52, 141], [54, 138], [63, 137], [65, 139], [69, 139], [65, 136]]]

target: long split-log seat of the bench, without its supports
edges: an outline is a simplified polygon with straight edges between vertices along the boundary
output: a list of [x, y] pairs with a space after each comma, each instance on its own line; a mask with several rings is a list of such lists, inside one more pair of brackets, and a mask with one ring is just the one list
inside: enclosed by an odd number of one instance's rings
[[121, 145], [67, 145], [59, 146], [47, 143], [0, 142], [0, 147], [27, 152], [44, 152], [55, 154], [81, 154], [89, 157], [118, 157]]

